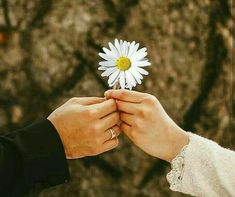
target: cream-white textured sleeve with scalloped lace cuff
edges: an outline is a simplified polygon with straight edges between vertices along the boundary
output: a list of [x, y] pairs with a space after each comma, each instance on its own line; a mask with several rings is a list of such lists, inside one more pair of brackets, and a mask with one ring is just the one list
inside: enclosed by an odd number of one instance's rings
[[188, 135], [189, 144], [171, 162], [170, 189], [193, 196], [235, 196], [235, 152], [196, 134]]

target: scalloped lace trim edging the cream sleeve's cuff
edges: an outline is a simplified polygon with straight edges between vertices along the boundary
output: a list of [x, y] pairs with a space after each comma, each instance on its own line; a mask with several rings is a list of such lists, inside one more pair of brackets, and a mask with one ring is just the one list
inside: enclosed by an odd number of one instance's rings
[[188, 148], [188, 144], [185, 145], [180, 153], [171, 162], [171, 171], [166, 175], [167, 181], [170, 184], [170, 189], [173, 191], [182, 190], [182, 179], [184, 173], [184, 158]]

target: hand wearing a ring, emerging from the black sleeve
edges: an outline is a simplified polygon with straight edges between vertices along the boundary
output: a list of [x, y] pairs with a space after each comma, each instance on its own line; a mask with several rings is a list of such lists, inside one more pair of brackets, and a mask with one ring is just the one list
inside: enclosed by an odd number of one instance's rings
[[59, 133], [67, 159], [93, 156], [111, 150], [120, 133], [117, 106], [113, 99], [72, 98], [48, 117]]

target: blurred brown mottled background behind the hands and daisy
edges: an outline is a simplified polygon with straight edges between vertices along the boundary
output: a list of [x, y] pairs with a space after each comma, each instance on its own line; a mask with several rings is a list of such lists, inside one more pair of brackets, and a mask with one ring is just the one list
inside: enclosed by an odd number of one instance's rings
[[[136, 90], [155, 95], [185, 130], [235, 150], [232, 0], [0, 5], [0, 134], [47, 117], [70, 97], [103, 96], [98, 52], [119, 38], [148, 48], [150, 75]], [[125, 136], [116, 150], [69, 167], [72, 181], [40, 197], [185, 196], [169, 190], [170, 165]]]

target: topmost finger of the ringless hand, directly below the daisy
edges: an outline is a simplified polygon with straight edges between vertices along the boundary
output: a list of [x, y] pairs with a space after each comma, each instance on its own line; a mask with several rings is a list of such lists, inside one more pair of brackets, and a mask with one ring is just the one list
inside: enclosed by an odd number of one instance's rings
[[130, 90], [108, 90], [104, 95], [107, 99], [113, 98], [133, 103], [140, 103], [146, 96], [145, 93]]

